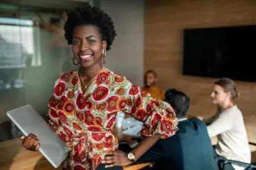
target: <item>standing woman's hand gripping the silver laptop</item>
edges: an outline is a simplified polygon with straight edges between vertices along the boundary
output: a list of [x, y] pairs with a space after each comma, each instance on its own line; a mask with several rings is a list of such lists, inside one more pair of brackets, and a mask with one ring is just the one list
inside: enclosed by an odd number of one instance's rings
[[26, 150], [38, 151], [40, 148], [39, 139], [36, 134], [29, 134], [28, 136], [22, 135], [20, 136], [22, 141], [22, 145]]

